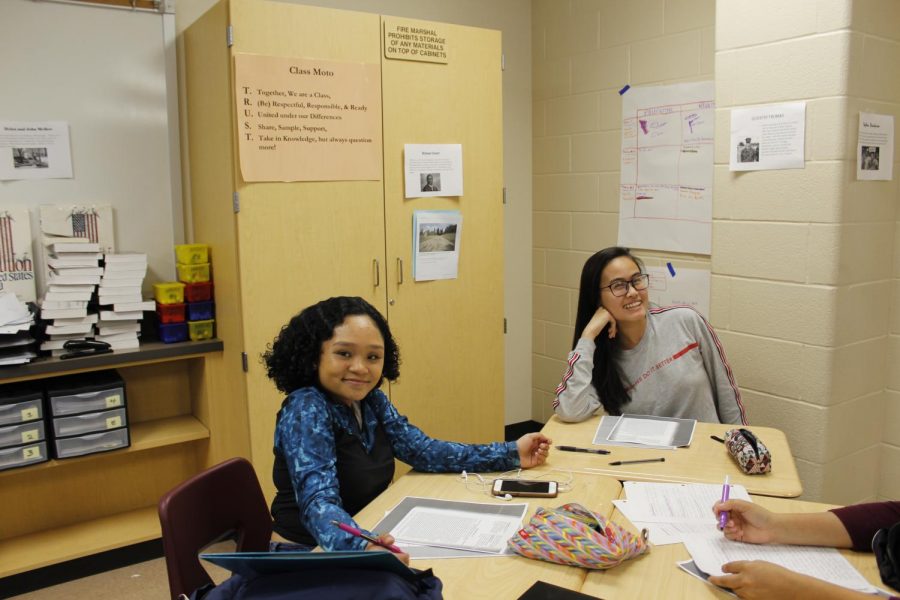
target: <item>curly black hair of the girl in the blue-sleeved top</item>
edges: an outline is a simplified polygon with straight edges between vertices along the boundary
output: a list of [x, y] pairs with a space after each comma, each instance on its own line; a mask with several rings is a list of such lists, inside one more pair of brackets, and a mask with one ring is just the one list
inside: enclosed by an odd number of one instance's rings
[[384, 338], [384, 368], [375, 387], [381, 386], [385, 378], [395, 381], [400, 376], [400, 349], [385, 318], [362, 298], [337, 296], [301, 310], [268, 345], [262, 362], [275, 387], [285, 394], [302, 387], [321, 387], [317, 367], [322, 344], [351, 315], [371, 318]]

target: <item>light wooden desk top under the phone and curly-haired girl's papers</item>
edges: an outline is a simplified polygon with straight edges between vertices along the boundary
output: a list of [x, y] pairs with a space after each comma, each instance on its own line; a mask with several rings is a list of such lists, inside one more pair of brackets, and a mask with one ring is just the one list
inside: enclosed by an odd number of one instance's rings
[[[539, 468], [527, 473], [534, 475], [540, 472], [542, 469]], [[388, 510], [407, 496], [469, 502], [505, 502], [487, 496], [472, 486], [467, 490], [458, 477], [458, 474], [408, 473], [395, 481], [378, 498], [356, 514], [354, 519], [363, 527], [373, 527]], [[488, 477], [485, 476], [485, 479]], [[571, 497], [569, 494], [562, 494], [557, 498], [519, 498], [517, 500], [528, 502], [526, 523], [538, 506], [559, 506], [566, 502], [576, 501], [608, 518], [613, 510], [611, 500], [618, 498], [621, 491], [622, 486], [615, 479], [591, 477], [590, 481], [581, 482], [577, 492]], [[497, 598], [498, 600], [518, 598], [538, 580], [577, 590], [587, 575], [585, 569], [556, 565], [521, 556], [419, 559], [411, 561], [411, 566], [417, 569], [434, 569], [435, 575], [444, 584], [444, 597], [448, 600], [455, 598]]]

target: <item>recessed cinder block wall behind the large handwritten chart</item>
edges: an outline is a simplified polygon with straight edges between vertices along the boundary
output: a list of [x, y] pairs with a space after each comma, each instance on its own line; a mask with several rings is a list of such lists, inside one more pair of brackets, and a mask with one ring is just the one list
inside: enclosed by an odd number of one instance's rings
[[[625, 85], [713, 79], [714, 0], [534, 0], [532, 415], [546, 421], [588, 256], [616, 243]], [[709, 270], [708, 256], [640, 253]], [[740, 373], [738, 373], [740, 376]]]

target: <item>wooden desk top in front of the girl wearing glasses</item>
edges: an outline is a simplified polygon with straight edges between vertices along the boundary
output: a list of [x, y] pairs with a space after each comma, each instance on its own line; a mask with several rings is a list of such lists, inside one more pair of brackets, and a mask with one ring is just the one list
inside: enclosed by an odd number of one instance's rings
[[[565, 423], [556, 415], [547, 421], [541, 432], [560, 444], [579, 447], [592, 446], [600, 417], [592, 417], [581, 423]], [[734, 425], [697, 423], [694, 440], [687, 448], [677, 450], [652, 450], [605, 446], [611, 454], [598, 455], [583, 452], [563, 452], [555, 448], [547, 462], [549, 466], [572, 469], [579, 473], [609, 475], [619, 480], [671, 481], [721, 484], [725, 475], [731, 483], [740, 484], [751, 494], [793, 498], [803, 492], [797, 466], [784, 433], [771, 427], [747, 427], [759, 436], [772, 453], [772, 471], [765, 475], [745, 475], [728, 454], [724, 444], [710, 439], [710, 435], [723, 437]], [[664, 463], [609, 466], [614, 460], [665, 457]]]

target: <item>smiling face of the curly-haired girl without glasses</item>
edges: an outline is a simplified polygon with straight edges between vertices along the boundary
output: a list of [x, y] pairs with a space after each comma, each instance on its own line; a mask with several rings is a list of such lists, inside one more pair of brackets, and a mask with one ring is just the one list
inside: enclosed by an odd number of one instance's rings
[[366, 397], [381, 380], [384, 338], [366, 315], [350, 315], [322, 342], [319, 383], [328, 395], [350, 405]]

